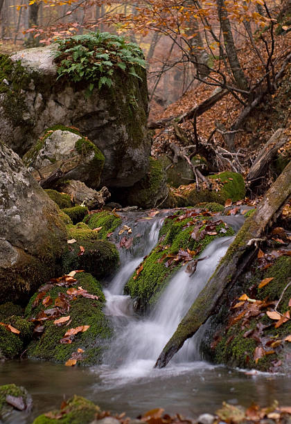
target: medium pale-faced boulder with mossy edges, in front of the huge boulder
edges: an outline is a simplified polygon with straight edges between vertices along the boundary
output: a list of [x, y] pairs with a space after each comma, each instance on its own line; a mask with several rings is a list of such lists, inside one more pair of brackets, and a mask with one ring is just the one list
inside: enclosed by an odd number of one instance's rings
[[77, 179], [92, 188], [100, 184], [105, 157], [94, 143], [75, 129], [48, 128], [23, 157], [35, 179], [49, 178], [58, 170], [62, 179]]

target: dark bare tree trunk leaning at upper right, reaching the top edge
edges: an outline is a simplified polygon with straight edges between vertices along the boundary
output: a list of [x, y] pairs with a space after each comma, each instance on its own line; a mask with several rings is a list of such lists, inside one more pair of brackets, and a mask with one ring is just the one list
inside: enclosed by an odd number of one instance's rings
[[239, 89], [248, 91], [249, 85], [247, 83], [247, 79], [245, 78], [245, 73], [240, 67], [240, 62], [236, 53], [236, 46], [234, 44], [233, 35], [231, 32], [231, 24], [228, 18], [227, 8], [225, 6], [224, 0], [216, 0], [216, 4], [218, 6], [218, 17], [220, 19], [224, 46], [225, 50], [227, 51], [227, 58], [229, 60], [233, 78]]

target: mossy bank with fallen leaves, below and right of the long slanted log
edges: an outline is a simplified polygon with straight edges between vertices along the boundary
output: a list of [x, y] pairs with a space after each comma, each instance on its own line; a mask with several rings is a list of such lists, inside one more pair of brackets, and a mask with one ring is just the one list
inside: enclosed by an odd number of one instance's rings
[[[289, 256], [281, 256], [276, 258], [272, 267], [268, 267], [267, 270], [260, 270], [254, 263], [252, 268], [252, 274], [247, 274], [241, 277], [238, 282], [238, 288], [236, 288], [236, 294], [238, 297], [245, 292], [250, 297], [255, 299], [268, 301], [275, 301], [274, 304], [279, 300], [281, 294], [286, 285], [286, 277], [291, 274], [291, 258]], [[265, 287], [259, 289], [258, 285], [263, 279], [273, 278], [270, 283]], [[252, 295], [250, 290], [252, 290]], [[285, 290], [283, 298], [279, 303], [278, 310], [284, 313], [288, 310], [288, 302], [291, 298], [291, 287]], [[234, 313], [234, 311], [232, 312]], [[221, 326], [222, 328], [227, 323], [231, 314], [229, 314], [229, 308], [222, 308], [217, 317], [215, 317], [215, 325]], [[256, 363], [254, 360], [254, 351], [257, 346], [261, 346], [256, 337], [252, 338], [252, 334], [244, 337], [247, 330], [254, 328], [256, 330], [257, 325], [267, 326], [261, 334], [261, 338], [265, 338], [265, 341], [272, 339], [273, 341], [284, 339], [284, 337], [291, 333], [291, 321], [285, 322], [279, 328], [275, 328], [274, 320], [267, 317], [265, 310], [256, 317], [249, 317], [247, 324], [242, 326], [242, 321], [231, 326], [229, 329], [222, 330], [222, 338], [220, 342], [213, 348], [212, 358], [215, 362], [229, 364], [231, 366], [240, 366], [243, 368], [256, 368], [261, 371], [270, 371], [272, 369], [272, 362], [277, 360], [285, 360], [285, 352], [281, 346], [271, 349], [270, 347], [264, 347], [266, 351], [274, 350], [275, 353], [270, 355], [264, 355]], [[288, 353], [287, 353], [288, 354]], [[278, 369], [277, 371], [280, 371]]]

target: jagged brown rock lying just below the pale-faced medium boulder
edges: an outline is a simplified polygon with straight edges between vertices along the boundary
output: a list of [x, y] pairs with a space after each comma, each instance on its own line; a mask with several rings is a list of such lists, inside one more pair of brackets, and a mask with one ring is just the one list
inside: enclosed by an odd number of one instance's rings
[[87, 206], [89, 211], [92, 209], [101, 209], [111, 196], [107, 187], [96, 191], [87, 187], [83, 182], [76, 180], [69, 180], [58, 184], [58, 190], [62, 193], [67, 193], [75, 204]]

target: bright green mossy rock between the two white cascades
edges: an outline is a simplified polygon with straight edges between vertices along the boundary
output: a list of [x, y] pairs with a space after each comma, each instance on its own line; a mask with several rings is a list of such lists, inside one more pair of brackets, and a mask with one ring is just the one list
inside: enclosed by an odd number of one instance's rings
[[[225, 224], [219, 222], [215, 228], [215, 235], [206, 234], [200, 240], [199, 238], [195, 240], [191, 237], [195, 225], [202, 220], [206, 223], [211, 217], [207, 216], [207, 213], [193, 217], [190, 214], [191, 209], [188, 209], [187, 213], [177, 211], [174, 215], [166, 218], [159, 233], [157, 246], [143, 260], [142, 270], [140, 268], [140, 272], [134, 272], [125, 285], [125, 292], [136, 299], [140, 310], [146, 310], [157, 301], [170, 276], [181, 266], [179, 260], [167, 263], [169, 258], [177, 255], [179, 249], [189, 249], [189, 251], [193, 251], [193, 258], [197, 258], [209, 242], [215, 238], [233, 234], [232, 229], [225, 229]], [[184, 218], [182, 218], [182, 215]], [[205, 224], [202, 225], [200, 231], [204, 227]], [[220, 232], [221, 229], [223, 231]]]

